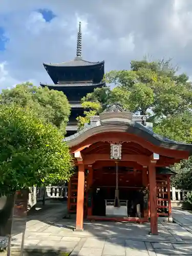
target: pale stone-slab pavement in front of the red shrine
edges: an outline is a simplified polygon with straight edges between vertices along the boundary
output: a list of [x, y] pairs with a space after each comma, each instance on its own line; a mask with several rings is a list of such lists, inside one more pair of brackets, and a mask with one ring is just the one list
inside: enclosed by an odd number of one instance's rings
[[[29, 216], [25, 249], [72, 252], [71, 256], [192, 255], [192, 232], [178, 223], [160, 222], [158, 236], [148, 234], [149, 223], [85, 222], [84, 231], [78, 232], [73, 231], [75, 219], [62, 219], [65, 209], [65, 204], [55, 204], [54, 208]], [[174, 210], [173, 217], [177, 214]], [[192, 220], [191, 214], [185, 212], [184, 215], [188, 221]], [[180, 221], [186, 218], [182, 212], [178, 216]], [[16, 229], [14, 232], [12, 248], [17, 248], [22, 234]]]

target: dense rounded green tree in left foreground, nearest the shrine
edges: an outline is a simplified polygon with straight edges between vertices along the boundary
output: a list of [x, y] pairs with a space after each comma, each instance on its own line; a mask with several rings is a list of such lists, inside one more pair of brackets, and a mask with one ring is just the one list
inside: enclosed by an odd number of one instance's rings
[[63, 136], [29, 108], [0, 105], [0, 194], [68, 180], [72, 157]]

